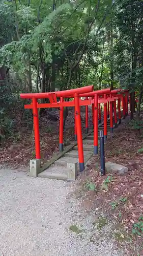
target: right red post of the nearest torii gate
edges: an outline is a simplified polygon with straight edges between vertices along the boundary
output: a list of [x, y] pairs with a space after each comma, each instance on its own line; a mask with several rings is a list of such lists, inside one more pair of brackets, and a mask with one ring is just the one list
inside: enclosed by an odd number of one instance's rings
[[75, 101], [75, 121], [76, 121], [76, 131], [77, 131], [79, 169], [80, 169], [80, 172], [82, 172], [84, 170], [84, 156], [83, 156], [79, 95], [77, 93], [74, 94], [74, 101]]

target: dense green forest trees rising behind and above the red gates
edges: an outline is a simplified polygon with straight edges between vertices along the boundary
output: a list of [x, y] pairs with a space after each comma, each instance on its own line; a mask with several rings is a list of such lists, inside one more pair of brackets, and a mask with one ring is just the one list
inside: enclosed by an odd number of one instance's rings
[[1, 0], [0, 16], [1, 140], [17, 111], [28, 119], [21, 92], [122, 86], [131, 90], [132, 110], [137, 92], [139, 121], [142, 1]]

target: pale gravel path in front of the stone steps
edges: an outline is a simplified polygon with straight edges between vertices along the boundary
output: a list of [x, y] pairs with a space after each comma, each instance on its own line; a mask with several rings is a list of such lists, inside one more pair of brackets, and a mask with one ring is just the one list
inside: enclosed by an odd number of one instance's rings
[[[85, 214], [70, 197], [73, 183], [12, 170], [1, 169], [0, 174], [1, 256], [125, 255], [106, 232], [100, 237], [93, 226], [95, 216]], [[72, 232], [71, 225], [81, 232]], [[97, 239], [91, 242], [95, 233]]]

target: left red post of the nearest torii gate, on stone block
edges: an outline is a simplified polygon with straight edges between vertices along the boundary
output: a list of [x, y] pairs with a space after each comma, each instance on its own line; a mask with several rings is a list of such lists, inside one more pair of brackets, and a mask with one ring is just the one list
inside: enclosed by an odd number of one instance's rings
[[39, 135], [39, 117], [38, 117], [38, 109], [37, 109], [37, 99], [34, 98], [34, 97], [33, 97], [33, 121], [34, 121], [36, 159], [41, 159], [41, 156], [40, 156], [40, 135]]

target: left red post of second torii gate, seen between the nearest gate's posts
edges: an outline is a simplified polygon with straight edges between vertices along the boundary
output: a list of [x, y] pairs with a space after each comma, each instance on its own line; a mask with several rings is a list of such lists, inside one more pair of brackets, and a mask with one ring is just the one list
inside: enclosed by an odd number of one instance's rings
[[[60, 98], [60, 102], [64, 102], [64, 98]], [[64, 107], [60, 106], [60, 129], [59, 129], [59, 150], [63, 151], [63, 131], [64, 131]]]

